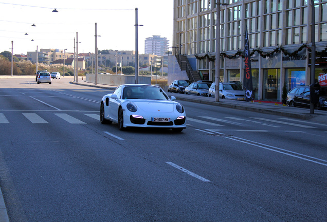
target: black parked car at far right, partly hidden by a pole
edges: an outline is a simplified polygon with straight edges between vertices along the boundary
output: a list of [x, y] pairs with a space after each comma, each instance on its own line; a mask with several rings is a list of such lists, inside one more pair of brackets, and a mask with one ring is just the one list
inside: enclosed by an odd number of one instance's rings
[[[296, 86], [287, 94], [288, 106], [310, 107], [310, 86]], [[327, 109], [326, 89], [321, 88], [319, 102], [315, 103], [315, 109]]]

